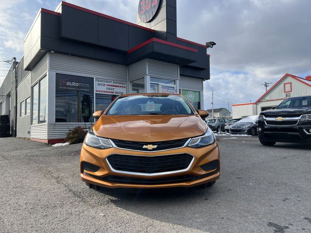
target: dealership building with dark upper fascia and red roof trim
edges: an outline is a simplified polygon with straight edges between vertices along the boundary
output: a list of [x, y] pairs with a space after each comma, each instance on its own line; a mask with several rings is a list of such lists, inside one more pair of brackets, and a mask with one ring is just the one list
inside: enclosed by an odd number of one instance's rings
[[180, 93], [204, 106], [207, 46], [177, 37], [176, 0], [140, 0], [137, 24], [61, 2], [41, 8], [0, 87], [11, 133], [46, 143], [91, 126], [130, 93]]

